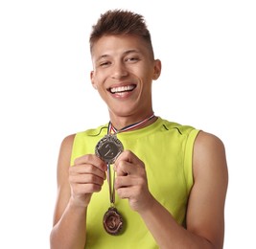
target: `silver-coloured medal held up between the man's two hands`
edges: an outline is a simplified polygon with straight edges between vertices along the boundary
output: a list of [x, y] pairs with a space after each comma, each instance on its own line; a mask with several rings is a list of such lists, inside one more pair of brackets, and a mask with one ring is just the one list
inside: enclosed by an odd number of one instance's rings
[[115, 135], [105, 135], [95, 147], [95, 154], [106, 164], [113, 164], [123, 150], [121, 141]]

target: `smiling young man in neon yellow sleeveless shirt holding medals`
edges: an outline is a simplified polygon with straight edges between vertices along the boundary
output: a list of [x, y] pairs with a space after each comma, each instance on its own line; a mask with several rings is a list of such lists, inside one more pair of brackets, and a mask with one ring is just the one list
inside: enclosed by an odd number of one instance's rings
[[144, 18], [106, 11], [90, 46], [110, 122], [61, 144], [51, 248], [222, 248], [223, 144], [153, 115], [161, 62]]

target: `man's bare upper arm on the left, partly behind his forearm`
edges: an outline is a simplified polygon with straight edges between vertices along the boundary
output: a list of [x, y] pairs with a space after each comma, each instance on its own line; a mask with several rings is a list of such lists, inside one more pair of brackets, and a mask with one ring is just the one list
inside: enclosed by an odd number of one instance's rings
[[69, 185], [69, 167], [72, 147], [75, 135], [70, 135], [61, 143], [58, 154], [58, 168], [57, 168], [57, 201], [54, 213], [54, 225], [58, 222], [63, 214], [68, 201], [70, 199], [70, 185]]

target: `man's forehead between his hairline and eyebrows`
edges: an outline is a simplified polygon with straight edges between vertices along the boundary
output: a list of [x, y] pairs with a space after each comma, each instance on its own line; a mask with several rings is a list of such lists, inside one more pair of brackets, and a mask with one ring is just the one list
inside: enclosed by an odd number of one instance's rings
[[141, 37], [134, 35], [104, 35], [92, 47], [92, 57], [115, 57], [136, 51], [143, 55], [150, 55], [149, 44]]

